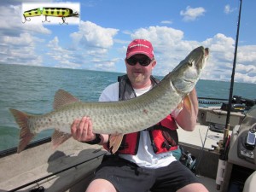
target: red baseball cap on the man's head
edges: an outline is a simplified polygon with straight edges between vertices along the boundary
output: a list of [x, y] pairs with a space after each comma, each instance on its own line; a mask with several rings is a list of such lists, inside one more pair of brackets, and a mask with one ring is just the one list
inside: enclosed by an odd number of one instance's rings
[[145, 39], [134, 39], [127, 47], [126, 58], [129, 59], [136, 54], [147, 55], [152, 60], [154, 57], [152, 44]]

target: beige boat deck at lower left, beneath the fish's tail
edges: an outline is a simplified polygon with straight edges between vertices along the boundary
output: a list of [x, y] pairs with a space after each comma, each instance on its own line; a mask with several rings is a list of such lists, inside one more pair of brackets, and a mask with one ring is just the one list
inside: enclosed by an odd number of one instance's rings
[[[28, 148], [0, 159], [0, 191], [30, 191], [38, 186], [44, 186], [44, 191], [84, 191], [103, 154], [101, 146], [73, 139], [56, 150], [51, 143]], [[74, 189], [81, 181], [81, 189]]]

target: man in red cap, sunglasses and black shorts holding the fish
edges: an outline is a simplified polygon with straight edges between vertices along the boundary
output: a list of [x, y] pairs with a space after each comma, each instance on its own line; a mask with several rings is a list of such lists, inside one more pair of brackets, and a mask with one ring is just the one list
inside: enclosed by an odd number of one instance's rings
[[[183, 84], [190, 81], [188, 80], [191, 79], [190, 76], [200, 73], [201, 68], [204, 67], [208, 49], [200, 47], [194, 51], [195, 54], [191, 52], [182, 61], [187, 62], [188, 67], [191, 67], [191, 69], [184, 69], [186, 72], [183, 76], [187, 79], [175, 79], [174, 77], [172, 80], [170, 90], [174, 92], [173, 94], [178, 95]], [[200, 54], [198, 55], [197, 52]], [[182, 62], [181, 64], [184, 65]], [[154, 79], [151, 75], [155, 65], [152, 44], [145, 39], [133, 40], [128, 45], [126, 52], [127, 74], [119, 77], [117, 83], [110, 84], [103, 90], [99, 101], [128, 100], [160, 86], [158, 85], [159, 80]], [[180, 65], [174, 71], [179, 70]], [[171, 75], [175, 76], [174, 73]], [[74, 139], [89, 144], [101, 144], [112, 153], [103, 158], [101, 166], [96, 169], [95, 178], [86, 190], [87, 192], [207, 191], [195, 175], [173, 156], [173, 151], [177, 149], [178, 144], [177, 125], [185, 131], [194, 131], [196, 124], [198, 101], [195, 88], [193, 86], [186, 87], [186, 89], [190, 89], [188, 94], [182, 100], [174, 101], [177, 102], [176, 109], [170, 109], [170, 114], [165, 119], [143, 131], [125, 135], [120, 133], [95, 134], [94, 122], [90, 117], [84, 116], [82, 119], [73, 121], [71, 133]], [[176, 96], [173, 98], [175, 99]], [[144, 108], [142, 113], [147, 116], [151, 111]]]

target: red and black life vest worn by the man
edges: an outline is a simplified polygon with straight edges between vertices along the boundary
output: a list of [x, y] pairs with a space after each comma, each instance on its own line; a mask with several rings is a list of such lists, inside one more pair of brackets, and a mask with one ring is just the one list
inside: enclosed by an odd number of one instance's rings
[[[158, 79], [151, 77], [153, 85], [159, 82]], [[119, 77], [119, 100], [126, 100], [136, 96], [132, 89], [130, 80], [127, 75]], [[147, 130], [151, 140], [155, 154], [165, 153], [177, 149], [177, 125], [175, 120], [169, 114], [166, 119], [163, 119], [157, 125], [149, 127]], [[140, 132], [126, 134], [120, 144], [119, 154], [137, 154]], [[109, 145], [108, 145], [109, 146]], [[109, 149], [108, 146], [106, 149]]]

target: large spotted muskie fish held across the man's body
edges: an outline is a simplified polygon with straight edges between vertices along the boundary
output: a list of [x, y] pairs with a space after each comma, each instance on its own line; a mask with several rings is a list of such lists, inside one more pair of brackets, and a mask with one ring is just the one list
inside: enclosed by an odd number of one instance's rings
[[[197, 83], [205, 66], [209, 50], [204, 47], [194, 49], [175, 67], [172, 73], [143, 96], [121, 102], [80, 102], [79, 99], [58, 90], [55, 93], [54, 110], [43, 115], [32, 115], [9, 109], [20, 126], [18, 153], [26, 148], [38, 132], [55, 128], [52, 135], [54, 147], [71, 137], [70, 127], [74, 119], [89, 116], [95, 133], [112, 134], [110, 147], [114, 153], [124, 134], [142, 131], [177, 108]], [[189, 106], [189, 105], [188, 105]], [[191, 106], [190, 106], [191, 107]]]

